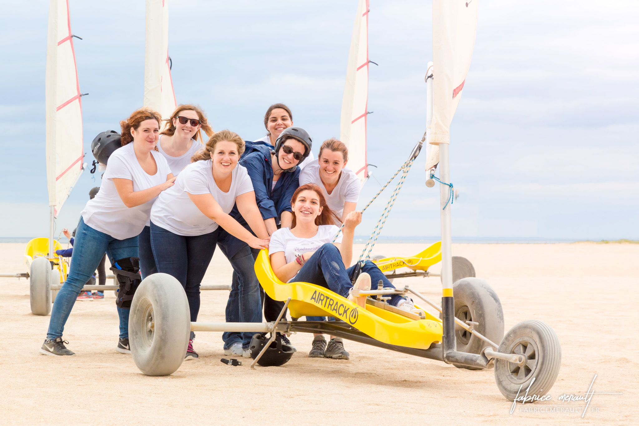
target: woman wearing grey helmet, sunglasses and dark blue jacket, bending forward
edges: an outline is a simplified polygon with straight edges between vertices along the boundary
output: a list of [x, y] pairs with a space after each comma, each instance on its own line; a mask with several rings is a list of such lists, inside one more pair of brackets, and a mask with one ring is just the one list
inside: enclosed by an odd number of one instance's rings
[[[255, 198], [268, 235], [272, 235], [279, 227], [291, 226], [293, 221], [291, 197], [300, 186], [298, 164], [311, 153], [311, 147], [312, 140], [309, 133], [295, 126], [284, 129], [277, 138], [275, 146], [266, 142], [246, 142], [246, 151], [240, 159], [240, 164], [246, 167], [253, 182]], [[250, 231], [237, 206], [231, 211], [231, 216]], [[236, 252], [245, 247], [246, 243], [227, 232], [222, 234], [219, 238], [224, 241], [224, 244], [220, 244], [220, 249], [227, 258], [231, 259]], [[254, 259], [257, 259], [259, 250], [252, 249], [252, 252]], [[248, 292], [253, 285], [259, 286], [257, 277], [255, 280], [254, 283], [244, 283], [236, 273], [233, 273], [231, 294], [226, 307], [227, 321], [229, 321], [229, 314], [232, 316], [234, 312], [238, 312], [238, 303], [241, 303], [242, 294]], [[266, 321], [275, 321], [284, 307], [284, 302], [272, 300], [261, 287], [259, 288], [264, 305], [264, 317]], [[290, 344], [286, 336], [282, 339], [282, 342]]]

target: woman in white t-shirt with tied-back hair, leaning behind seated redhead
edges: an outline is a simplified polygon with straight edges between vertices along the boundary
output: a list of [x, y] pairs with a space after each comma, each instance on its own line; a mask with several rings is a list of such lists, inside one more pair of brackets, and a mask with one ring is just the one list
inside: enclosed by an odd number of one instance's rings
[[[360, 180], [357, 174], [346, 167], [348, 148], [343, 142], [331, 138], [324, 141], [319, 148], [318, 161], [309, 164], [300, 173], [300, 185], [312, 183], [321, 189], [328, 207], [344, 222], [351, 211], [355, 211], [360, 193]], [[325, 321], [325, 317], [306, 317], [307, 321]], [[328, 321], [335, 321], [328, 317]], [[342, 339], [330, 337], [327, 342], [324, 336], [316, 334], [309, 356], [312, 358], [333, 358], [348, 360], [349, 354], [344, 349]]]

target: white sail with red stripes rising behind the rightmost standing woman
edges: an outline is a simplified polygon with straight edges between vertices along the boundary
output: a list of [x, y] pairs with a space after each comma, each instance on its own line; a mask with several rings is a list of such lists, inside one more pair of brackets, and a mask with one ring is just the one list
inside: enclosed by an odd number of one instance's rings
[[357, 174], [362, 185], [368, 178], [368, 12], [369, 0], [360, 0], [348, 54], [339, 131], [339, 139], [348, 147], [348, 167]]

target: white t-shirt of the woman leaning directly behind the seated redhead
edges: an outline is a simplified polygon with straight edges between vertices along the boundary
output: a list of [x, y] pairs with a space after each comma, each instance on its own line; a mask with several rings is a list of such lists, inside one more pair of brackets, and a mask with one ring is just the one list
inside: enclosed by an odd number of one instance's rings
[[324, 193], [324, 197], [326, 197], [328, 207], [335, 212], [335, 215], [337, 215], [339, 220], [342, 219], [344, 202], [357, 202], [359, 199], [361, 189], [360, 180], [357, 177], [357, 174], [348, 167], [344, 167], [344, 169], [342, 169], [342, 176], [339, 177], [337, 186], [335, 186], [330, 195], [326, 192], [326, 188], [319, 178], [318, 162], [313, 162], [312, 164], [307, 165], [307, 167], [305, 167], [305, 169], [300, 173], [300, 186], [307, 183], [314, 183], [321, 188]]

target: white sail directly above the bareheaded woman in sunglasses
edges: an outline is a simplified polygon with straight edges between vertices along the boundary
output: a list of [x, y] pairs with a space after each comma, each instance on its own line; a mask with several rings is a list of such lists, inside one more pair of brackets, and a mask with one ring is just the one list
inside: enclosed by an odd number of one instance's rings
[[169, 0], [146, 0], [144, 106], [169, 118], [178, 106], [169, 64]]

